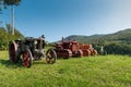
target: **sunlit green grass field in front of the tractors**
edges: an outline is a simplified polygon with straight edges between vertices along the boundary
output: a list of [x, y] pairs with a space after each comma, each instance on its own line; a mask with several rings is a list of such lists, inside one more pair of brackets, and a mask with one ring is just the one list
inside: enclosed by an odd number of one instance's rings
[[31, 69], [12, 64], [0, 51], [0, 87], [131, 87], [131, 57], [97, 55], [34, 61]]

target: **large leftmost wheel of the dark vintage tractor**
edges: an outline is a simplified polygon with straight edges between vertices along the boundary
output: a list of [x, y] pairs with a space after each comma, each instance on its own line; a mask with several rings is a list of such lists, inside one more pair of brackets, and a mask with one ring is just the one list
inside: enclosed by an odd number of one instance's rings
[[12, 63], [16, 63], [19, 59], [16, 59], [16, 50], [17, 46], [15, 41], [10, 41], [9, 44], [9, 59]]

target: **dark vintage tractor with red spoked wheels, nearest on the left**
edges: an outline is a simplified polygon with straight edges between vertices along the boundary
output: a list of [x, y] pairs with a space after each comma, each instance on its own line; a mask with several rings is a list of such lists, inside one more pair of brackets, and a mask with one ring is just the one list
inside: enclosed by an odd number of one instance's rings
[[53, 49], [48, 49], [45, 53], [45, 37], [26, 37], [24, 40], [12, 40], [9, 42], [9, 58], [13, 63], [22, 62], [22, 65], [29, 67], [33, 60], [46, 58], [47, 63], [55, 63], [57, 54]]

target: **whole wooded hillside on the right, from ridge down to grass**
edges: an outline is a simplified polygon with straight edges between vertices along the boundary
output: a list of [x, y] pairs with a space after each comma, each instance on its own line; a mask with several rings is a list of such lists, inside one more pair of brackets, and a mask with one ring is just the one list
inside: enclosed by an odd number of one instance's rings
[[[92, 44], [98, 54], [129, 54], [131, 55], [131, 28], [119, 30], [112, 34], [105, 35], [71, 35], [64, 40], [76, 40], [79, 44]], [[104, 51], [100, 51], [100, 48]]]

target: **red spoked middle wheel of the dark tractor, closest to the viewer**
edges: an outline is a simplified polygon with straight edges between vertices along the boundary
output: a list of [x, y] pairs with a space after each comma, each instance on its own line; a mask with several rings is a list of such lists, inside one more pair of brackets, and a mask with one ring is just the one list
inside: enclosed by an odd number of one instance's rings
[[21, 60], [22, 60], [22, 65], [24, 67], [31, 67], [31, 65], [33, 63], [33, 57], [28, 49], [26, 49], [25, 51], [22, 52]]

